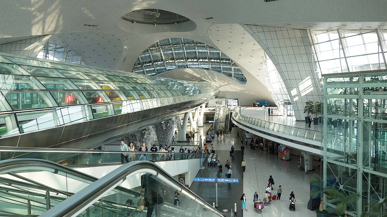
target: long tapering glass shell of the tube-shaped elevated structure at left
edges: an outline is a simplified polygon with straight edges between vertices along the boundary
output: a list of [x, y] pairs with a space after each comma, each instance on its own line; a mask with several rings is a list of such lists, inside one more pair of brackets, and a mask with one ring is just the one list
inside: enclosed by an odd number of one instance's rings
[[188, 82], [0, 53], [0, 138], [111, 115], [204, 100]]

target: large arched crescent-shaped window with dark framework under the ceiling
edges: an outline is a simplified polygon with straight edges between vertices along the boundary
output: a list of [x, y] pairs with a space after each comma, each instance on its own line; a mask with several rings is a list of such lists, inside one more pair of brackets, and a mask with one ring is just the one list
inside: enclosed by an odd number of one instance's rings
[[224, 53], [202, 42], [183, 38], [152, 44], [136, 60], [132, 72], [158, 75], [179, 68], [203, 68], [246, 80], [240, 68]]

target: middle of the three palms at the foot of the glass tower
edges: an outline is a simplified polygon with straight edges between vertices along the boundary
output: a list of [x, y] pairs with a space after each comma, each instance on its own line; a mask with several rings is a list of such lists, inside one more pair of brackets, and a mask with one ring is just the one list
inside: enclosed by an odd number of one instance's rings
[[351, 203], [356, 203], [360, 198], [359, 193], [349, 193], [346, 195], [343, 190], [336, 188], [326, 190], [325, 196], [330, 199], [336, 199], [338, 203], [336, 205], [335, 212], [340, 216], [344, 214], [344, 217], [347, 217], [348, 205]]

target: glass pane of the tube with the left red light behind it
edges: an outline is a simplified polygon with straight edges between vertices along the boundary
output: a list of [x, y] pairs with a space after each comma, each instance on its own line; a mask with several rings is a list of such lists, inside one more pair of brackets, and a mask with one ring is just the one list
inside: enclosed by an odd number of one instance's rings
[[59, 106], [82, 105], [89, 103], [80, 91], [50, 91]]

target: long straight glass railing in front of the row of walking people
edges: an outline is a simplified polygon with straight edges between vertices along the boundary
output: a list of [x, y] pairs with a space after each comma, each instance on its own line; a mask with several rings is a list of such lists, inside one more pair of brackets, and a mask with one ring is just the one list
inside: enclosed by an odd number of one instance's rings
[[[197, 147], [197, 146], [196, 146]], [[175, 150], [176, 151], [176, 150]], [[177, 150], [178, 151], [178, 150]], [[120, 164], [122, 151], [103, 151], [85, 149], [51, 149], [51, 148], [24, 148], [24, 147], [0, 147], [0, 160], [6, 159], [44, 159], [66, 165], [102, 166], [108, 164]], [[206, 153], [171, 153], [171, 152], [126, 152], [128, 161], [173, 161], [184, 159], [201, 159]], [[124, 163], [126, 163], [124, 158]]]

